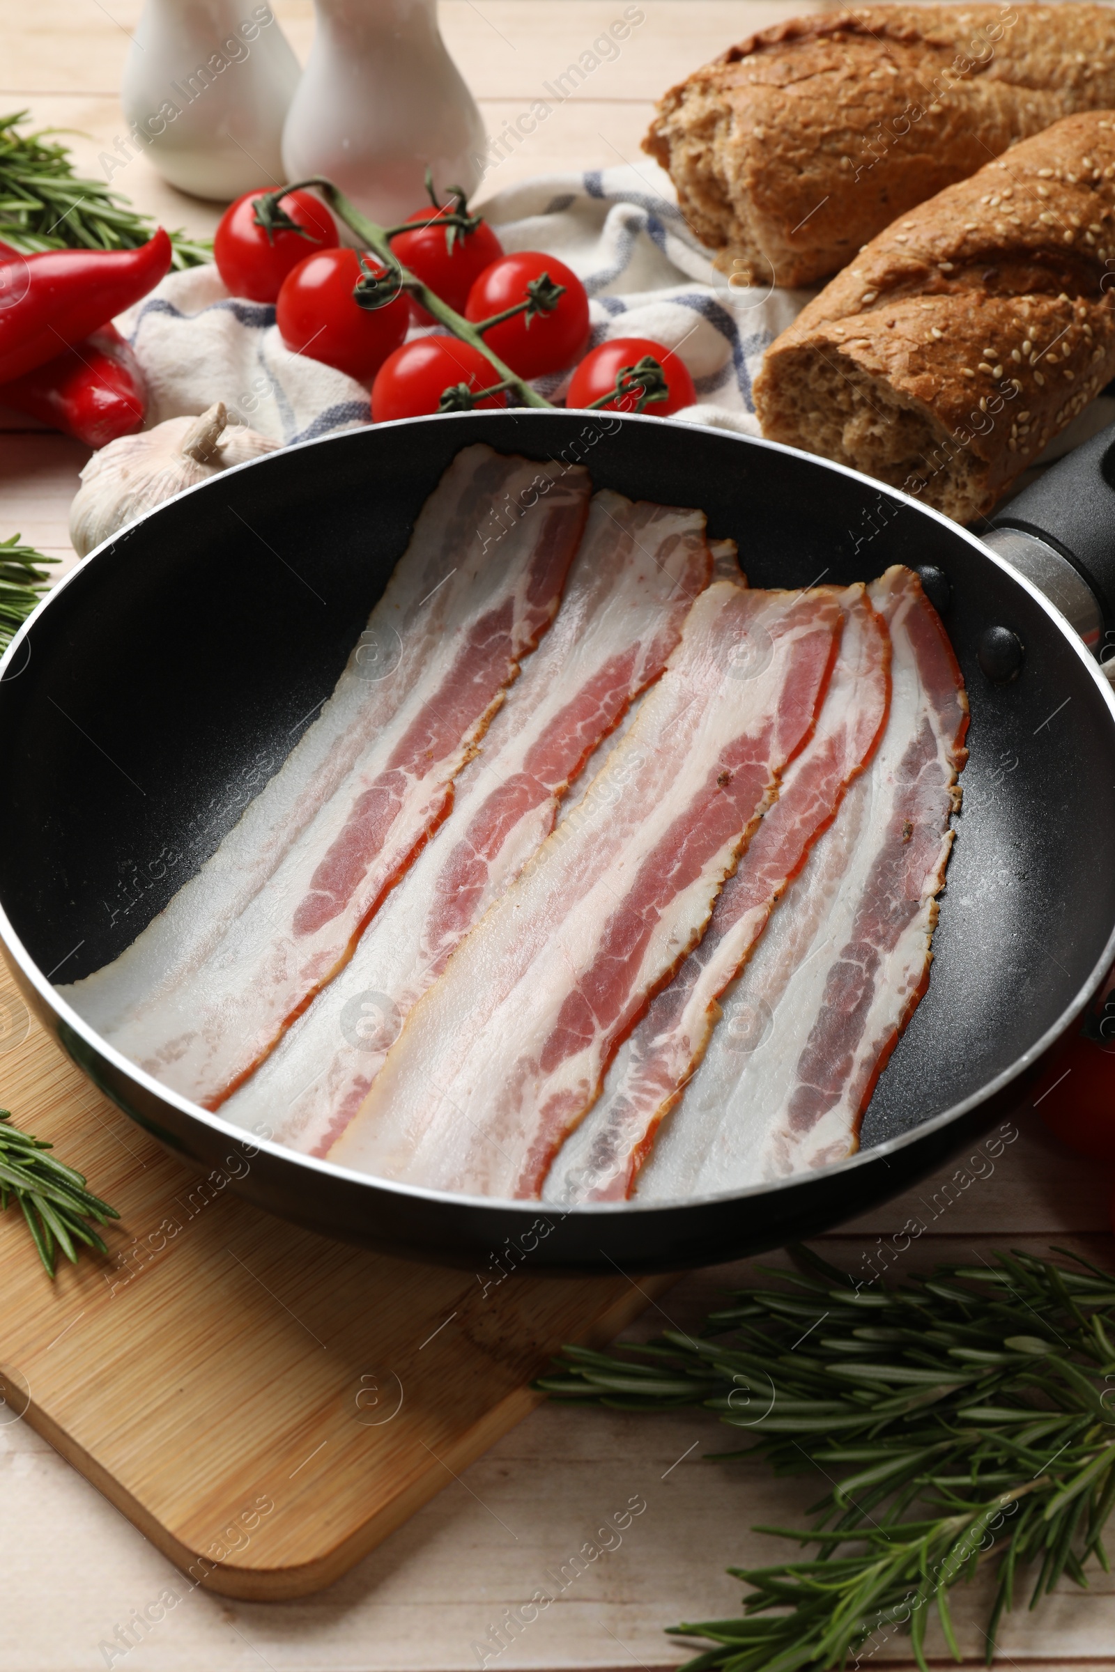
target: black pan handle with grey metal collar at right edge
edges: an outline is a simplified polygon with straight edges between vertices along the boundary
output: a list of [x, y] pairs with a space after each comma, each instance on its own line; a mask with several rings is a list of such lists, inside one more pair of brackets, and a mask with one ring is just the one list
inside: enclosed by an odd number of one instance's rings
[[1115, 425], [991, 517], [991, 550], [1056, 604], [1107, 659], [1115, 645]]

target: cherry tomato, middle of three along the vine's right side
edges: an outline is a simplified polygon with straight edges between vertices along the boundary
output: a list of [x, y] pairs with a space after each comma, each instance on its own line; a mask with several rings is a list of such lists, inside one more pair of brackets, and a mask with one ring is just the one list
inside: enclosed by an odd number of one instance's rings
[[547, 371], [560, 371], [577, 359], [588, 336], [588, 298], [585, 286], [563, 261], [543, 256], [537, 249], [523, 249], [517, 256], [503, 256], [486, 268], [465, 304], [465, 318], [473, 323], [490, 319], [517, 303], [527, 301], [527, 286], [547, 273], [553, 284], [565, 286], [552, 313], [515, 314], [503, 324], [485, 331], [485, 343], [520, 378], [540, 378]]

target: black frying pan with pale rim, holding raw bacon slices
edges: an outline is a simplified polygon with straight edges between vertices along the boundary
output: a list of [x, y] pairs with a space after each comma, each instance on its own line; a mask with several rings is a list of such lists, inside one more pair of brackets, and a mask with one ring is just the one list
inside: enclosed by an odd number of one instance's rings
[[[941, 610], [971, 701], [965, 806], [929, 990], [849, 1160], [697, 1200], [568, 1212], [389, 1184], [249, 1139], [135, 1068], [53, 990], [115, 958], [277, 769], [423, 500], [478, 440], [700, 507], [712, 535], [739, 542], [752, 585], [846, 584], [901, 562]], [[660, 418], [406, 420], [214, 477], [105, 542], [0, 664], [0, 936], [22, 991], [142, 1127], [328, 1236], [485, 1272], [503, 1257], [630, 1272], [844, 1221], [1015, 1107], [1115, 958], [1115, 701], [1093, 654], [1115, 645], [1110, 460], [1112, 435], [1080, 448], [1008, 505], [990, 543], [838, 465]]]

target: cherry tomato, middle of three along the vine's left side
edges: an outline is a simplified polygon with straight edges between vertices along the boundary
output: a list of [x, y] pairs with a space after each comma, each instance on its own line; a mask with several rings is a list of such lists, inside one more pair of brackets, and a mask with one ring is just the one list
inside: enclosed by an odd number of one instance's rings
[[[371, 273], [383, 273], [373, 257], [364, 261]], [[368, 383], [406, 336], [410, 309], [405, 294], [386, 308], [361, 308], [353, 296], [359, 278], [354, 249], [308, 256], [283, 279], [274, 316], [283, 341], [296, 354]]]

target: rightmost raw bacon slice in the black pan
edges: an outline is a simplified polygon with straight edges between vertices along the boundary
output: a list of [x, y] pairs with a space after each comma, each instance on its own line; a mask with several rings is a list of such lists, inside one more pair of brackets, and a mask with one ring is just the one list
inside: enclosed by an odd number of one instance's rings
[[918, 577], [889, 568], [869, 595], [891, 634], [883, 741], [726, 993], [637, 1200], [736, 1190], [853, 1154], [926, 990], [968, 699]]

